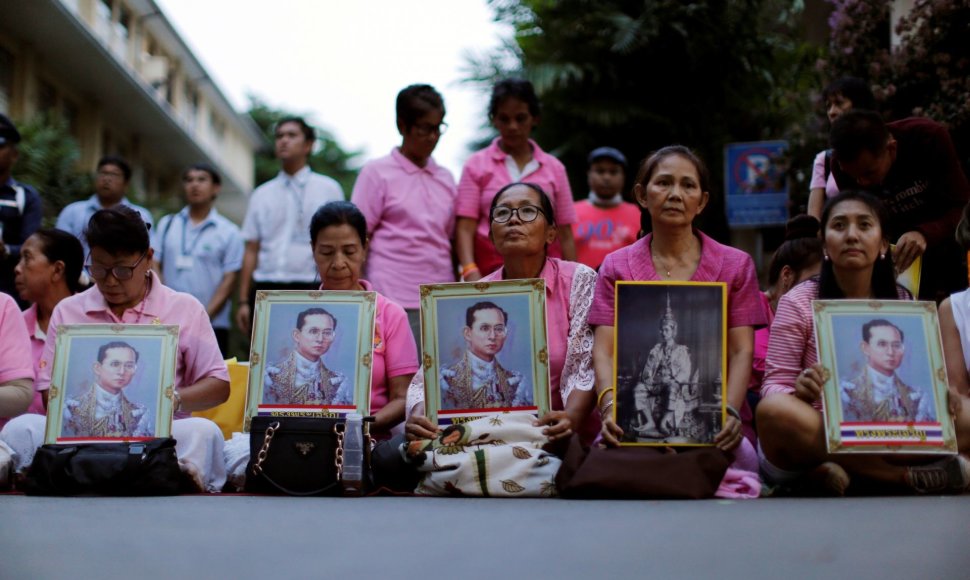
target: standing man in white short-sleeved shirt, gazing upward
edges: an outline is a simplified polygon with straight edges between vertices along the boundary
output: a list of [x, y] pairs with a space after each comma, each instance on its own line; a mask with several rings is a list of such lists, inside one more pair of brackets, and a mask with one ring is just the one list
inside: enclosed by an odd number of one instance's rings
[[333, 179], [314, 173], [307, 161], [313, 128], [300, 117], [276, 124], [276, 158], [281, 171], [260, 185], [243, 221], [242, 276], [236, 324], [245, 334], [252, 325], [256, 290], [312, 290], [319, 286], [310, 250], [310, 218], [318, 207], [344, 198]]

